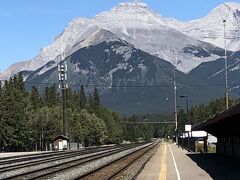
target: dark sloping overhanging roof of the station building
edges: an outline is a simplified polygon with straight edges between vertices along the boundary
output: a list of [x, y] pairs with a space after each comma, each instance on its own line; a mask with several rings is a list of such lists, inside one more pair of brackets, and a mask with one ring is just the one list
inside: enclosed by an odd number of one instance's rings
[[240, 104], [193, 126], [192, 130], [204, 130], [218, 137], [240, 135]]

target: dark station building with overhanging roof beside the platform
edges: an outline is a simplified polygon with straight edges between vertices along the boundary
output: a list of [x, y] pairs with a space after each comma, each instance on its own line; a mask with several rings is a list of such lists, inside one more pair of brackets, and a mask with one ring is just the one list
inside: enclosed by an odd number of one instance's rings
[[217, 153], [240, 158], [240, 104], [193, 127], [217, 137]]

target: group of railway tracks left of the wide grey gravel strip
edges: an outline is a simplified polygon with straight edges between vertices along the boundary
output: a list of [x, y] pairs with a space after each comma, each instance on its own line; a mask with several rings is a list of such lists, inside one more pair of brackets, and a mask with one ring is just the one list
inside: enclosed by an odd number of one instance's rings
[[[141, 144], [142, 145], [142, 144]], [[8, 165], [7, 167], [0, 168], [0, 179], [46, 179], [50, 176], [58, 174], [60, 172], [66, 172], [69, 169], [84, 165], [89, 162], [93, 162], [97, 159], [114, 155], [119, 152], [132, 149], [139, 146], [132, 144], [128, 146], [120, 146], [115, 148], [103, 148], [97, 152], [89, 152], [85, 154], [82, 152], [73, 152], [71, 155], [60, 155], [60, 157], [44, 157], [44, 159], [39, 159], [35, 162], [24, 162], [19, 165]], [[78, 153], [78, 154], [77, 154]], [[78, 156], [78, 158], [74, 158]], [[72, 158], [72, 159], [71, 159]], [[59, 162], [58, 160], [63, 160], [64, 162]], [[69, 160], [68, 160], [69, 159]], [[55, 162], [55, 163], [52, 163]], [[42, 164], [45, 163], [45, 166]], [[48, 163], [48, 165], [47, 165]], [[36, 169], [31, 169], [33, 166], [38, 166]], [[42, 166], [42, 167], [41, 167]], [[30, 170], [26, 168], [29, 167]], [[39, 168], [40, 167], [40, 168]], [[25, 170], [23, 170], [25, 168]]]

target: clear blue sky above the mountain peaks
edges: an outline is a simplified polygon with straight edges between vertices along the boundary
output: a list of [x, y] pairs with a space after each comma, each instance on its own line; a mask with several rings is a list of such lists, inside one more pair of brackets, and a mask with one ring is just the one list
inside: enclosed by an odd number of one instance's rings
[[[35, 57], [75, 17], [94, 17], [125, 0], [1, 0], [0, 70]], [[203, 17], [223, 0], [143, 0], [162, 16]], [[235, 0], [239, 2], [240, 0]]]

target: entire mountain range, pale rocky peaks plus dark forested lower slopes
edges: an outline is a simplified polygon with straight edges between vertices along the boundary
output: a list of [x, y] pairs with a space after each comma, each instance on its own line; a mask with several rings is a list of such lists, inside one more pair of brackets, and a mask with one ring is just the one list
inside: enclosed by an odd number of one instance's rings
[[[236, 3], [224, 3], [202, 19], [180, 22], [156, 14], [145, 3], [121, 3], [93, 19], [74, 19], [36, 58], [12, 65], [0, 78], [21, 71], [28, 88], [58, 84], [57, 66], [64, 57], [72, 89], [85, 85], [91, 92], [97, 87], [103, 103], [122, 113], [169, 112], [177, 67], [178, 94], [188, 95], [191, 105], [208, 102], [224, 95], [219, 21], [231, 22], [236, 37], [238, 9]], [[227, 43], [228, 49], [238, 49], [236, 39]], [[230, 90], [237, 96], [239, 52], [230, 50]]]

